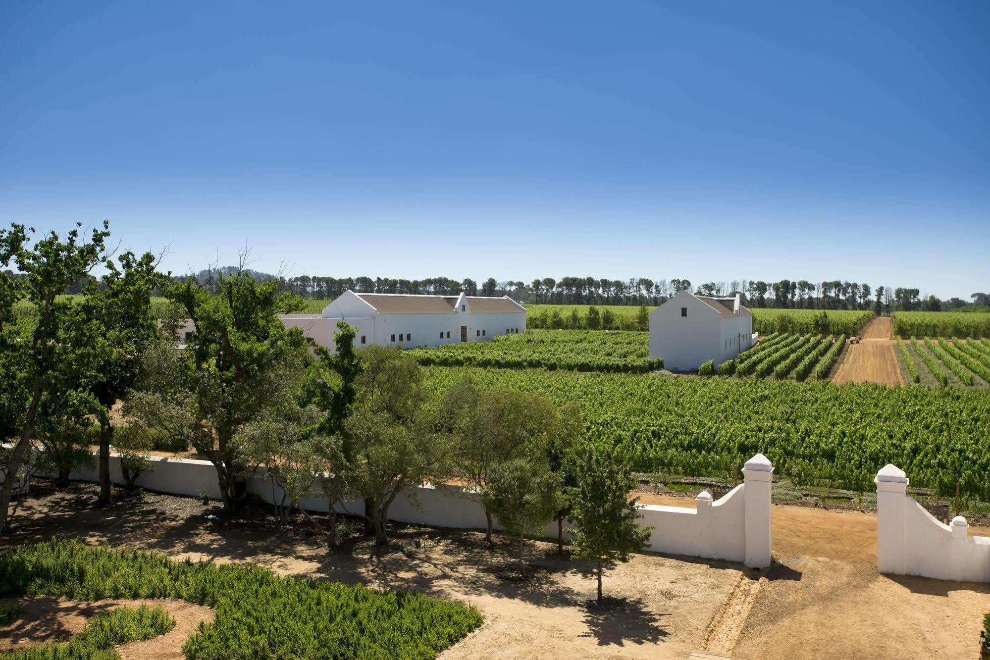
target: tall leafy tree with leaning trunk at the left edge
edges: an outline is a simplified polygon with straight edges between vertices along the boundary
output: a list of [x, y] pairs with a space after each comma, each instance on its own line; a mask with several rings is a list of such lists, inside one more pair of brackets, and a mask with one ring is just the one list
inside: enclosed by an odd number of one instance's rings
[[[12, 225], [0, 231], [0, 412], [4, 430], [15, 433], [17, 442], [7, 456], [3, 472], [16, 476], [30, 448], [42, 402], [52, 393], [67, 398], [84, 397], [81, 384], [94, 381], [101, 356], [95, 340], [98, 329], [77, 314], [74, 306], [58, 296], [70, 285], [85, 278], [105, 261], [107, 223], [94, 229], [88, 241], [79, 240], [79, 227], [64, 238], [54, 232], [27, 246], [29, 231]], [[32, 230], [31, 232], [33, 232]], [[4, 272], [10, 266], [23, 277], [15, 280]], [[13, 323], [13, 305], [27, 299], [38, 310], [37, 325], [21, 336]], [[9, 436], [9, 435], [8, 435]], [[14, 478], [7, 478], [0, 489], [0, 533], [8, 522]]]

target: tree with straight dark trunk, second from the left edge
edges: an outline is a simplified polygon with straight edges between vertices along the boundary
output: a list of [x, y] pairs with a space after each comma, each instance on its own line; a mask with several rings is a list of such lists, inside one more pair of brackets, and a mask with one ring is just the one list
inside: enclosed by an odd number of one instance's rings
[[87, 295], [80, 313], [97, 324], [96, 336], [103, 356], [100, 378], [91, 388], [100, 403], [96, 412], [100, 423], [100, 497], [98, 504], [110, 502], [110, 444], [114, 428], [110, 410], [134, 388], [137, 365], [144, 351], [159, 339], [160, 332], [151, 309], [151, 292], [167, 286], [168, 276], [158, 273], [159, 259], [150, 252], [140, 258], [125, 252], [118, 266], [108, 260], [103, 287]]

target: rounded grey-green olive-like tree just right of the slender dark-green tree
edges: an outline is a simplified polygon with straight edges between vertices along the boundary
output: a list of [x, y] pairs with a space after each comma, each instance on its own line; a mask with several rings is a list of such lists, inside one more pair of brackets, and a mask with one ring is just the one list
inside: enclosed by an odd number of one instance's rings
[[364, 500], [375, 543], [388, 543], [388, 510], [411, 486], [446, 478], [449, 443], [425, 409], [423, 370], [399, 348], [360, 351], [356, 398], [343, 424], [349, 489]]

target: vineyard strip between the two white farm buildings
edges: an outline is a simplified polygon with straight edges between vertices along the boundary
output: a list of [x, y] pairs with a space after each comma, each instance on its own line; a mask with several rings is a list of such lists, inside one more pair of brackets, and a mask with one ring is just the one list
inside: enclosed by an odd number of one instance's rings
[[663, 360], [647, 357], [648, 350], [648, 336], [643, 332], [528, 330], [497, 336], [490, 341], [413, 348], [408, 352], [425, 366], [644, 373], [663, 365]]

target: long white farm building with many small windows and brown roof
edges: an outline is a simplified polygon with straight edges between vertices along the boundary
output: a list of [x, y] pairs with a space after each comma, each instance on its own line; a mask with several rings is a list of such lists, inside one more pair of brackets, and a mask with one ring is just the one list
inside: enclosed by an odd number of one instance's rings
[[508, 296], [423, 296], [355, 293], [349, 289], [320, 316], [281, 315], [286, 327], [331, 350], [338, 322], [357, 329], [354, 346], [370, 344], [406, 348], [486, 341], [499, 334], [526, 331], [526, 308]]

